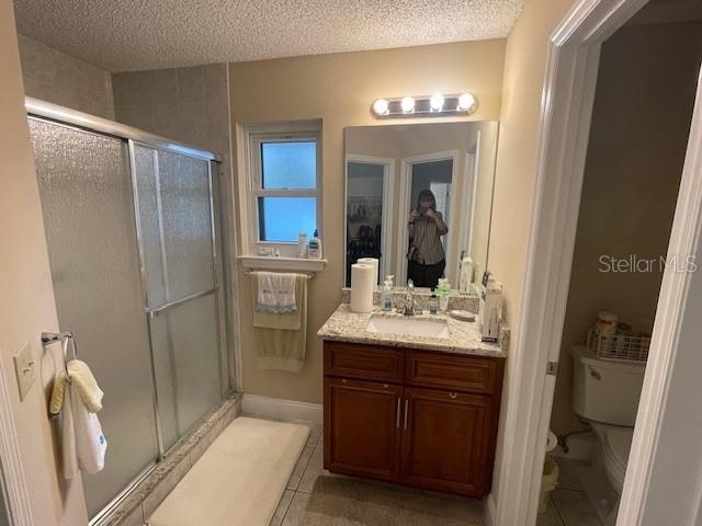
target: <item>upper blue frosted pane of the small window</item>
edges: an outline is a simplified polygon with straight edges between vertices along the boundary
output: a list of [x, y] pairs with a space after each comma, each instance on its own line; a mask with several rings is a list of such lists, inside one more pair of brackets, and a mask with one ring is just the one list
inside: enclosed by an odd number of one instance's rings
[[317, 142], [261, 142], [264, 188], [316, 188]]

